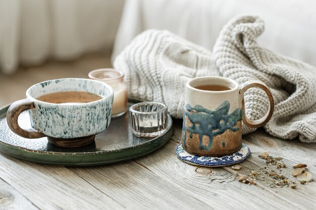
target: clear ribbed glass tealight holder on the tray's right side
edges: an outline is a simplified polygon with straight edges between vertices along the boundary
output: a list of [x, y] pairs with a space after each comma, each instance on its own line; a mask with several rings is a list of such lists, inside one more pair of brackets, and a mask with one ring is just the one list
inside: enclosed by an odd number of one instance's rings
[[133, 133], [139, 137], [154, 137], [168, 127], [168, 107], [162, 103], [141, 102], [130, 108]]

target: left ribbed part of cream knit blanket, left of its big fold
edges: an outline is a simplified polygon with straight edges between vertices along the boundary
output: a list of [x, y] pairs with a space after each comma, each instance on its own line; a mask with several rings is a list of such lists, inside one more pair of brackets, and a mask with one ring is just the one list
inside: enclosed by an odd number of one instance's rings
[[125, 47], [114, 67], [125, 74], [129, 98], [167, 104], [173, 117], [182, 118], [185, 83], [220, 74], [211, 55], [168, 31], [148, 30]]

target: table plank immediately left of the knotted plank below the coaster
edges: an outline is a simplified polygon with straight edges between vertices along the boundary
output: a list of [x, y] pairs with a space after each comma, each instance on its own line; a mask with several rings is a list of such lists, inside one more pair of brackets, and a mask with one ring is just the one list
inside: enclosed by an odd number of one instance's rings
[[70, 169], [127, 209], [214, 209], [134, 161]]

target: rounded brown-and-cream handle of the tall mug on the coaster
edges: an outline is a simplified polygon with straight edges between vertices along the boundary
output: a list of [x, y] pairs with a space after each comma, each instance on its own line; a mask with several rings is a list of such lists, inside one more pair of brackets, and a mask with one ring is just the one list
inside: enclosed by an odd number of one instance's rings
[[[244, 93], [249, 88], [254, 88], [254, 87], [261, 88], [262, 90], [264, 90], [269, 98], [269, 109], [267, 113], [265, 114], [265, 116], [257, 120], [249, 119], [245, 112]], [[260, 80], [250, 80], [248, 82], [245, 82], [242, 85], [242, 88], [239, 90], [239, 94], [242, 97], [242, 111], [243, 111], [242, 121], [244, 122], [244, 124], [247, 125], [248, 127], [261, 127], [265, 125], [270, 120], [273, 110], [274, 110], [274, 100], [273, 100], [273, 96], [268, 85]]]

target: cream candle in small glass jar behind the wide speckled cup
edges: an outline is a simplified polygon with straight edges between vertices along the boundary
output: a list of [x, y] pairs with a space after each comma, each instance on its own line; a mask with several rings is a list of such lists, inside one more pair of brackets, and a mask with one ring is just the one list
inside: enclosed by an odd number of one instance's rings
[[124, 74], [114, 68], [99, 68], [89, 73], [89, 78], [110, 85], [114, 90], [112, 118], [120, 117], [127, 111], [127, 88]]

